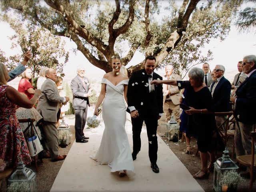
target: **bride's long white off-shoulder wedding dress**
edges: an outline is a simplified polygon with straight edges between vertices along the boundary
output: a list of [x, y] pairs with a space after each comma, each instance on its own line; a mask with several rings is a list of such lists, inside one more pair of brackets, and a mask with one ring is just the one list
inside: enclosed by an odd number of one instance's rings
[[102, 83], [106, 84], [106, 96], [102, 104], [105, 129], [98, 152], [90, 157], [98, 164], [110, 166], [111, 172], [126, 170], [128, 176], [133, 176], [132, 152], [125, 131], [124, 84], [128, 85], [128, 81], [122, 80], [114, 86], [109, 80], [102, 78]]

